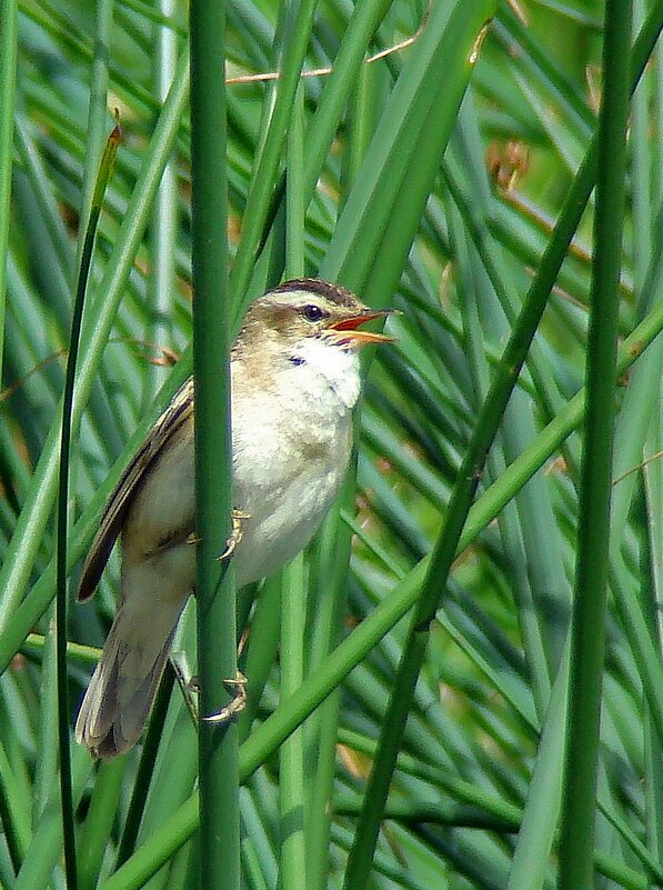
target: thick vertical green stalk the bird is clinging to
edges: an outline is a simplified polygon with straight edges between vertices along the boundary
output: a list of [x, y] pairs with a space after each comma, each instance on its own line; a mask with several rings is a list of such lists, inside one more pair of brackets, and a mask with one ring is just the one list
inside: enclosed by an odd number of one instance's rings
[[191, 171], [195, 528], [200, 680], [200, 880], [240, 887], [238, 731], [205, 720], [228, 704], [237, 671], [232, 568], [219, 561], [230, 534], [230, 323], [227, 269], [225, 4], [191, 3]]

